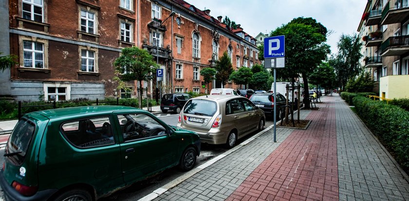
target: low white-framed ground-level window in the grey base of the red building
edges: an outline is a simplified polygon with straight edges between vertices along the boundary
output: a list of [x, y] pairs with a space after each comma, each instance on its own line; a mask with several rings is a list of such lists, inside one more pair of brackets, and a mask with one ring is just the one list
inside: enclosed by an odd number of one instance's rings
[[44, 101], [68, 101], [70, 93], [70, 84], [44, 84]]

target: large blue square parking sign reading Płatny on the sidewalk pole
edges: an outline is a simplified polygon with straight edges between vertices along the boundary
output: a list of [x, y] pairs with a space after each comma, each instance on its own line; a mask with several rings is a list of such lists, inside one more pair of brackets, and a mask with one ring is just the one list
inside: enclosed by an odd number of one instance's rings
[[285, 36], [278, 35], [264, 38], [264, 58], [285, 56]]

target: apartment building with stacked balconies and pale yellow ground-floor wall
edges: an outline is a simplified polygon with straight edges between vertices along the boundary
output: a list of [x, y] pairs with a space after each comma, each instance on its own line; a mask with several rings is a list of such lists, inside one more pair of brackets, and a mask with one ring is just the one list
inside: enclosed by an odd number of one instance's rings
[[364, 62], [378, 83], [376, 92], [409, 98], [409, 0], [369, 0], [361, 25], [368, 30], [362, 36]]

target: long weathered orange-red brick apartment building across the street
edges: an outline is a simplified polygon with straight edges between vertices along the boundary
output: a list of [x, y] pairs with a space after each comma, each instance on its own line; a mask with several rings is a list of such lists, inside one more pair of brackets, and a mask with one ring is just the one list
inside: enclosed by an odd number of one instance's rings
[[[1, 0], [4, 1], [7, 0]], [[8, 0], [10, 54], [19, 57], [0, 94], [18, 101], [155, 96], [156, 77], [117, 91], [114, 60], [125, 47], [148, 50], [167, 92], [205, 92], [200, 76], [227, 51], [234, 69], [258, 61], [254, 38], [183, 0]], [[213, 82], [210, 88], [221, 87]], [[224, 87], [239, 88], [235, 84]], [[207, 88], [207, 87], [206, 87]], [[128, 94], [130, 92], [130, 94]]]

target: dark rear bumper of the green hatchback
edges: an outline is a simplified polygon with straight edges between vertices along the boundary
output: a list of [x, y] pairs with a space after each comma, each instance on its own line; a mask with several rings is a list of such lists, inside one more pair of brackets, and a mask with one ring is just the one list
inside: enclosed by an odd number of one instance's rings
[[23, 196], [7, 183], [3, 175], [3, 170], [0, 171], [0, 185], [6, 201], [45, 201], [58, 191], [57, 189], [47, 189], [37, 191], [37, 193], [32, 196]]

